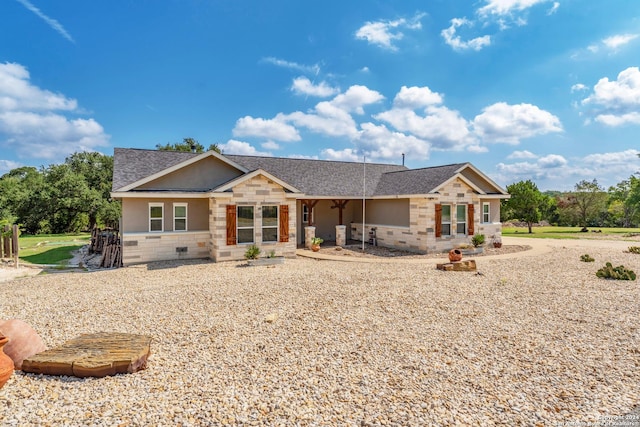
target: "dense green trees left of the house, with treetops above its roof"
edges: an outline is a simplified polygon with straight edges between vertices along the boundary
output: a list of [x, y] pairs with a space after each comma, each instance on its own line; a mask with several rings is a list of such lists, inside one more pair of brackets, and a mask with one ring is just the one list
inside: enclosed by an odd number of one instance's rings
[[[193, 138], [156, 146], [158, 150], [204, 152]], [[209, 150], [220, 152], [217, 144]], [[0, 176], [0, 225], [18, 224], [23, 233], [74, 233], [118, 227], [120, 203], [111, 199], [113, 157], [79, 152], [62, 164], [23, 166]]]

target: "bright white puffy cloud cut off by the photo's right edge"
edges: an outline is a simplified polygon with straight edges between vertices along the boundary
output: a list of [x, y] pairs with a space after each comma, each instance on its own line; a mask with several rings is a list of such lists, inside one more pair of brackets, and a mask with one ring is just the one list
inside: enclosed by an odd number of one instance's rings
[[595, 120], [607, 126], [640, 123], [640, 70], [629, 67], [613, 81], [603, 77], [582, 105], [594, 106]]

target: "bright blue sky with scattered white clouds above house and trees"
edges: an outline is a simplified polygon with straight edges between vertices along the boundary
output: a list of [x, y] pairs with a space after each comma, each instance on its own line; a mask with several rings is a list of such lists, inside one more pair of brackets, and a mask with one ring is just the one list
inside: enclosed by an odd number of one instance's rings
[[3, 0], [0, 174], [192, 137], [607, 187], [640, 171], [639, 62], [637, 0]]

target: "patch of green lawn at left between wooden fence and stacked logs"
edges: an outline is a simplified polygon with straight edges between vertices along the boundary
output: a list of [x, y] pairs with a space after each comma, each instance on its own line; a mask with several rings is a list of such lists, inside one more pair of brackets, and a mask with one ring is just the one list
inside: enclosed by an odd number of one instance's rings
[[30, 264], [65, 265], [73, 251], [89, 243], [91, 235], [82, 234], [39, 234], [20, 236], [20, 260]]

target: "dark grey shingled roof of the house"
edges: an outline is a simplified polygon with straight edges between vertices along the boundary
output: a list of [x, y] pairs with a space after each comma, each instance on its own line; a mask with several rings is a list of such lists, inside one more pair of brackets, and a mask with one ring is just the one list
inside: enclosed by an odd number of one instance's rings
[[[202, 153], [116, 148], [113, 191], [161, 173], [196, 156], [202, 156]], [[429, 194], [462, 169], [470, 166], [469, 163], [456, 163], [408, 169], [401, 165], [367, 163], [366, 168], [363, 168], [362, 163], [356, 162], [241, 155], [222, 157], [248, 171], [262, 169], [297, 188], [306, 197], [360, 197], [363, 192], [364, 169], [368, 197]]]

